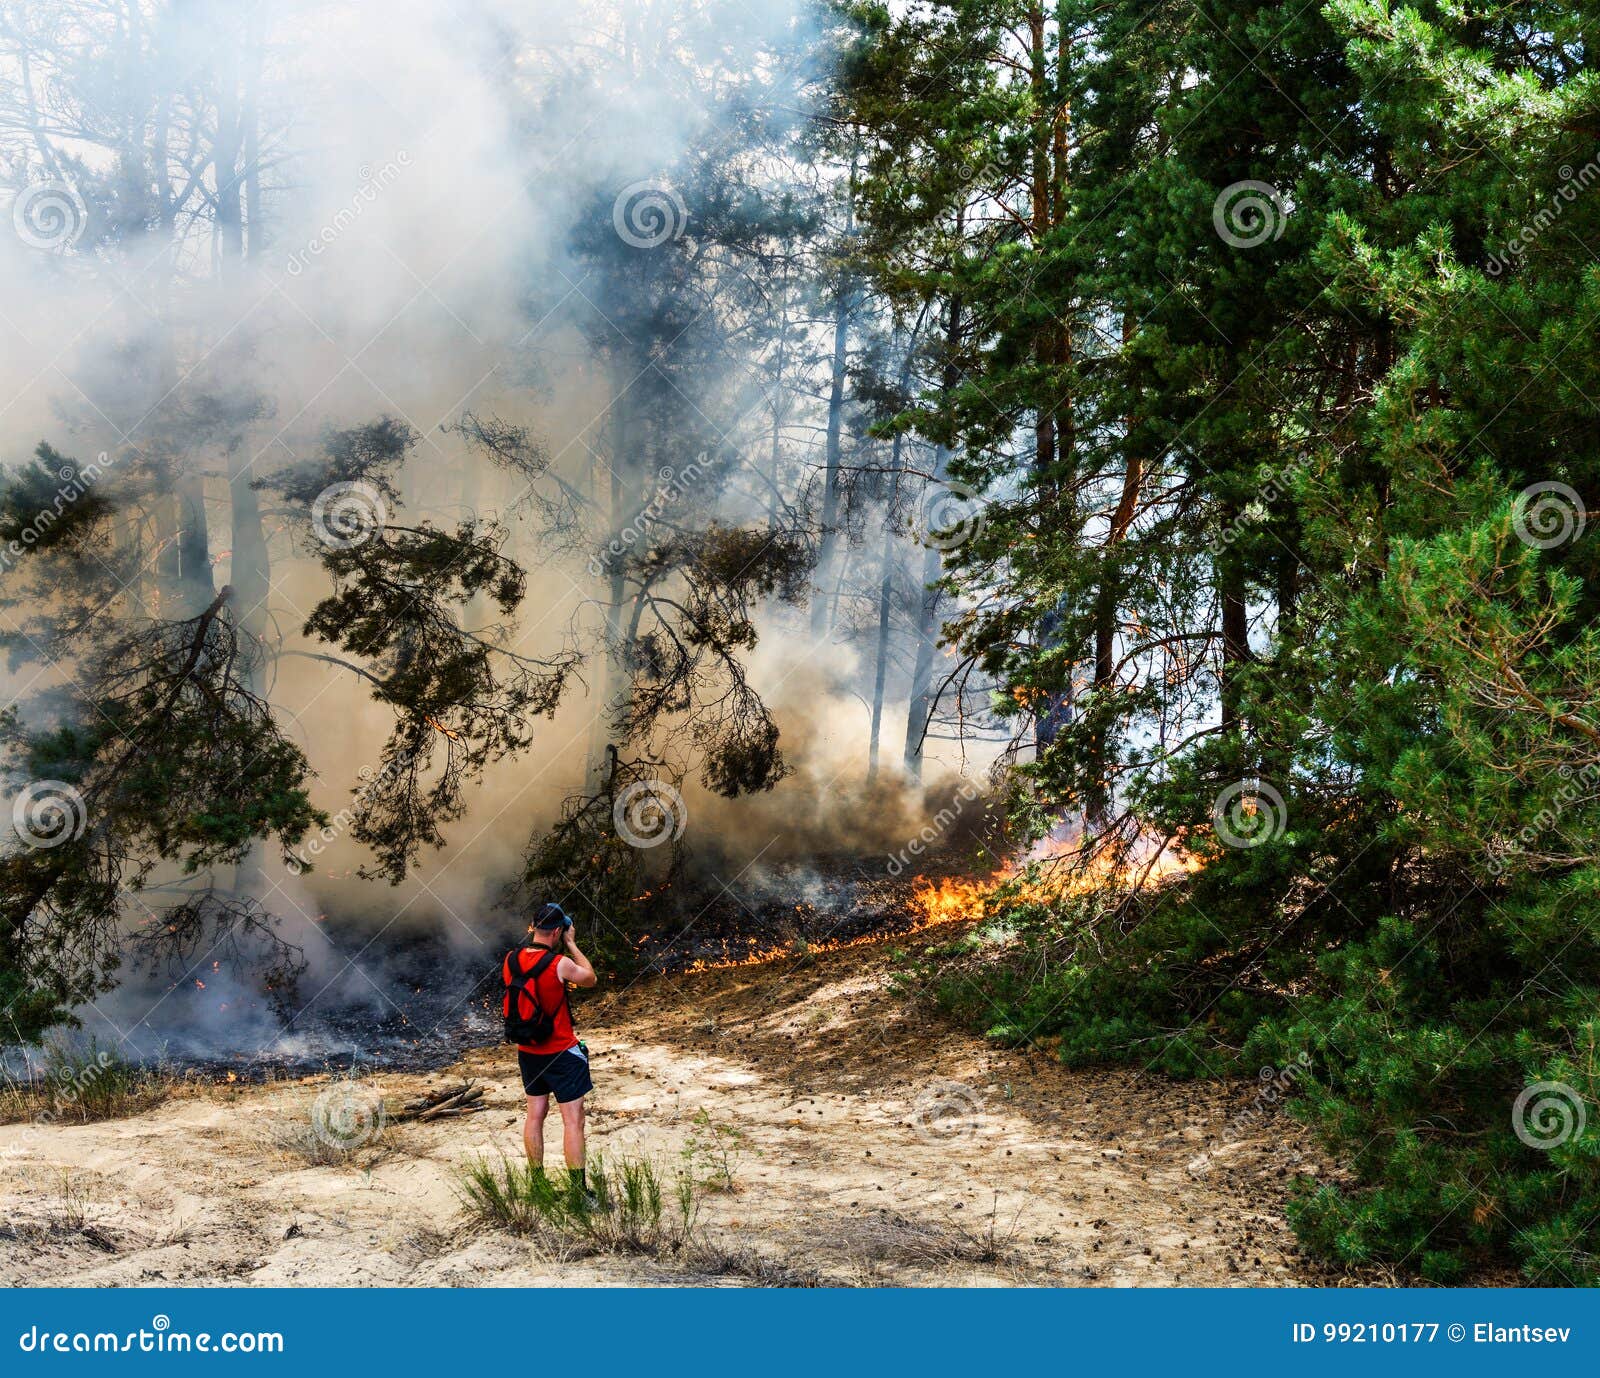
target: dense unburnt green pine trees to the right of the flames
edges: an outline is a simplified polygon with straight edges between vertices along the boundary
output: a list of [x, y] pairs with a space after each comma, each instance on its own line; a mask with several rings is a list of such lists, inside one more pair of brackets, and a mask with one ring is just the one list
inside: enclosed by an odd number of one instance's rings
[[1203, 863], [1011, 911], [939, 999], [1069, 1061], [1309, 1066], [1331, 1258], [1600, 1280], [1592, 6], [915, 13], [997, 74], [923, 112], [989, 150], [915, 418], [986, 504], [950, 639], [1035, 723], [1026, 826]]

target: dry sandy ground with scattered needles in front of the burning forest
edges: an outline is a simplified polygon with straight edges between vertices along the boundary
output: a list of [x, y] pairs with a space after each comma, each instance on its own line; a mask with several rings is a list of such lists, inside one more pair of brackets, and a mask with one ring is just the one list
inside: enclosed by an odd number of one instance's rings
[[[995, 1048], [890, 992], [894, 946], [658, 978], [579, 1005], [590, 1152], [718, 1180], [704, 1247], [685, 1258], [586, 1258], [464, 1216], [459, 1165], [522, 1149], [514, 1058], [483, 1048], [371, 1080], [398, 1104], [477, 1077], [488, 1112], [390, 1127], [339, 1165], [291, 1146], [328, 1077], [190, 1084], [126, 1119], [0, 1125], [0, 1284], [1382, 1280], [1299, 1255], [1290, 1181], [1331, 1167], [1291, 1122], [1240, 1120], [1254, 1085]], [[554, 1108], [547, 1144], [554, 1165]]]

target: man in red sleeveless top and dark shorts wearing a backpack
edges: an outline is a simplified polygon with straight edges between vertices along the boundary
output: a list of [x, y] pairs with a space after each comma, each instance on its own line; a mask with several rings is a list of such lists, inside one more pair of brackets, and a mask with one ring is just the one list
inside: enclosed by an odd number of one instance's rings
[[[546, 959], [549, 952], [562, 955], [549, 962]], [[594, 986], [598, 979], [595, 968], [579, 949], [573, 920], [560, 904], [544, 904], [539, 909], [528, 928], [528, 943], [506, 960], [507, 986], [512, 979], [512, 962], [520, 963], [523, 975], [538, 970], [528, 983], [528, 994], [544, 1011], [554, 1015], [549, 1037], [536, 1044], [517, 1044], [517, 1066], [522, 1071], [522, 1088], [528, 1096], [528, 1122], [522, 1128], [528, 1162], [544, 1172], [544, 1117], [554, 1095], [562, 1111], [562, 1151], [566, 1156], [566, 1170], [587, 1192], [584, 1096], [594, 1090], [594, 1080], [589, 1077], [589, 1050], [573, 1029], [566, 987]]]

